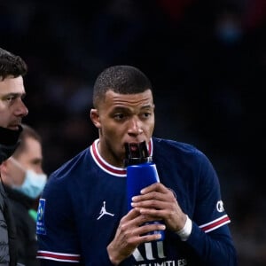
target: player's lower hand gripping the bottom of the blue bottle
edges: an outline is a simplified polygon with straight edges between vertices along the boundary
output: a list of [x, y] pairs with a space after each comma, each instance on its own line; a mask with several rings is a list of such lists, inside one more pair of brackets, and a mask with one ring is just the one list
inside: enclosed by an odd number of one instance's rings
[[160, 239], [160, 234], [145, 235], [151, 231], [165, 230], [163, 224], [145, 224], [154, 221], [149, 215], [141, 215], [137, 209], [131, 209], [121, 218], [113, 241], [107, 246], [107, 252], [113, 265], [129, 257], [142, 243]]

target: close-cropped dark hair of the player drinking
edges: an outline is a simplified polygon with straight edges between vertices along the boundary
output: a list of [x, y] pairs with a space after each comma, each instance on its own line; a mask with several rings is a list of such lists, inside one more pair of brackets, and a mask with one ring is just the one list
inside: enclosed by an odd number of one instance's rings
[[100, 73], [94, 83], [93, 106], [105, 99], [106, 91], [120, 94], [136, 94], [152, 90], [148, 77], [135, 66], [110, 66]]

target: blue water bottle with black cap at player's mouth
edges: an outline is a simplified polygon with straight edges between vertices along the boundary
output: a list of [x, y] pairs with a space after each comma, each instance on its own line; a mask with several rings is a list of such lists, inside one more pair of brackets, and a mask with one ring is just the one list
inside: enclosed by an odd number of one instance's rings
[[[128, 210], [130, 210], [132, 197], [140, 195], [140, 191], [146, 186], [160, 182], [157, 168], [153, 158], [149, 156], [147, 145], [144, 142], [139, 144], [126, 144], [125, 167], [127, 168], [127, 200]], [[158, 221], [149, 223], [161, 223]], [[164, 231], [153, 231], [149, 234], [160, 233], [164, 239]], [[157, 240], [157, 241], [158, 241]]]

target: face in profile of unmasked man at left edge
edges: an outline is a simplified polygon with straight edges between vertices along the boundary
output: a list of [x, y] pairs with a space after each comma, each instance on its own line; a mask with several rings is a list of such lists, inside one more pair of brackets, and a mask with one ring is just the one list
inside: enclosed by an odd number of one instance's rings
[[22, 76], [0, 80], [0, 127], [17, 130], [28, 113], [23, 103], [25, 89]]

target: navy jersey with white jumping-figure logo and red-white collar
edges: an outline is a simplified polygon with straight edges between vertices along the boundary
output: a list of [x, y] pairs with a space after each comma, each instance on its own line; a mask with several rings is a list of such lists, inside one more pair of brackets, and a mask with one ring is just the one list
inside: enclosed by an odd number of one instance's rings
[[[43, 265], [112, 265], [106, 246], [127, 214], [126, 169], [103, 160], [97, 144], [53, 172], [43, 190], [37, 218], [37, 256]], [[160, 182], [192, 219], [192, 233], [181, 241], [165, 231], [163, 241], [138, 246], [120, 265], [236, 265], [230, 218], [207, 157], [192, 145], [154, 137], [149, 152]]]

